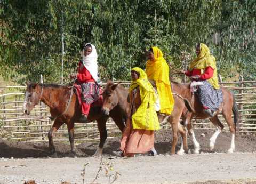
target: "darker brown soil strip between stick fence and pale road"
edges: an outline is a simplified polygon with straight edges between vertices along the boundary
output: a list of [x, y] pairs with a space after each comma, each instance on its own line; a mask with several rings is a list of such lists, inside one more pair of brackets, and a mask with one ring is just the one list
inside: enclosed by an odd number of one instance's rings
[[[203, 137], [201, 134], [204, 134]], [[214, 131], [196, 129], [195, 134], [197, 141], [201, 145], [201, 151], [203, 153], [223, 153], [230, 147], [231, 136], [230, 133], [220, 133], [216, 143], [215, 149], [210, 151], [209, 139]], [[160, 130], [155, 135], [155, 148], [158, 154], [169, 154], [171, 149], [172, 132], [171, 130]], [[188, 138], [189, 148], [193, 149], [193, 143], [191, 138]], [[177, 150], [180, 147], [181, 140], [179, 139]], [[55, 148], [58, 153], [58, 157], [70, 157], [70, 145], [64, 142], [54, 142]], [[236, 152], [255, 152], [256, 151], [256, 137], [249, 135], [240, 135], [235, 140]], [[98, 142], [84, 142], [76, 145], [77, 157], [90, 157], [94, 154], [98, 147]], [[105, 156], [111, 156], [113, 150], [119, 148], [119, 138], [109, 139], [105, 143], [103, 148], [103, 154]], [[48, 143], [24, 143], [24, 142], [9, 142], [1, 141], [0, 138], [0, 158], [45, 158], [50, 156]]]

